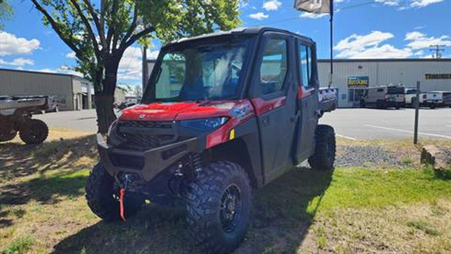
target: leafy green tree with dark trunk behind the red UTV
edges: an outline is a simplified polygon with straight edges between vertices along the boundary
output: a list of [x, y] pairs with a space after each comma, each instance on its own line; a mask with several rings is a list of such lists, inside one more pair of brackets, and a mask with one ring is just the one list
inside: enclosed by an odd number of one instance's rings
[[116, 118], [114, 90], [119, 61], [139, 41], [230, 30], [239, 24], [239, 0], [31, 0], [77, 57], [76, 69], [94, 84], [98, 131]]

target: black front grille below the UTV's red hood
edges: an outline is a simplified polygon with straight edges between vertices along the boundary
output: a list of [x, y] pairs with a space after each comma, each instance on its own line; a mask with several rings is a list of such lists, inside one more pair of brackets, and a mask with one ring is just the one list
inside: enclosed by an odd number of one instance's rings
[[148, 150], [177, 140], [174, 126], [168, 121], [119, 121], [117, 130], [126, 140], [121, 147], [127, 149]]

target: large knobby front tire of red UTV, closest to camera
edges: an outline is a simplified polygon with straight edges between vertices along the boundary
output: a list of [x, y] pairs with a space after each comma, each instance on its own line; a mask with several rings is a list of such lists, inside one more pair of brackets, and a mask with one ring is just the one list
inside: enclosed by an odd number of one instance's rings
[[240, 165], [211, 163], [189, 184], [186, 198], [187, 221], [197, 247], [206, 253], [230, 253], [240, 245], [252, 206], [249, 178]]

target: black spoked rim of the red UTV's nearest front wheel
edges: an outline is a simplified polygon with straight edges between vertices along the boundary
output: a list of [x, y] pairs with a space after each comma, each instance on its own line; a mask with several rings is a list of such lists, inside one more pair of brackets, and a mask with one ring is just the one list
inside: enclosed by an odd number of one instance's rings
[[241, 190], [236, 184], [231, 184], [222, 194], [219, 213], [222, 229], [225, 232], [233, 231], [240, 223], [241, 209]]

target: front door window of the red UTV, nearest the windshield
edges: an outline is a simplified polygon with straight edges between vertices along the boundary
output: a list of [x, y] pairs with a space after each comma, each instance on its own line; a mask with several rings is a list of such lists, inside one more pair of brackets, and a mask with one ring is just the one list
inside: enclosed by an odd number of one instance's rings
[[260, 85], [263, 94], [281, 91], [287, 74], [287, 41], [267, 39], [260, 66]]

